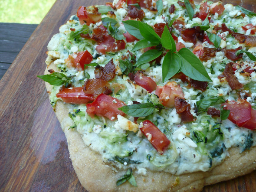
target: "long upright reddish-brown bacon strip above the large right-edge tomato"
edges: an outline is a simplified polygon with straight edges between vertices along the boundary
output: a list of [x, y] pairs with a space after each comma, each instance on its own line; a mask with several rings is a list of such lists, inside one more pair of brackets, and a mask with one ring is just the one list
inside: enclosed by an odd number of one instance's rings
[[241, 84], [237, 80], [236, 76], [234, 75], [232, 65], [233, 65], [233, 62], [230, 62], [230, 63], [226, 64], [226, 68], [223, 72], [223, 75], [226, 77], [226, 80], [227, 80], [227, 82], [230, 85], [230, 88], [232, 90], [240, 89], [240, 88], [243, 87], [243, 84]]

